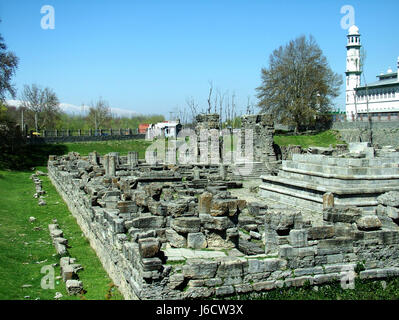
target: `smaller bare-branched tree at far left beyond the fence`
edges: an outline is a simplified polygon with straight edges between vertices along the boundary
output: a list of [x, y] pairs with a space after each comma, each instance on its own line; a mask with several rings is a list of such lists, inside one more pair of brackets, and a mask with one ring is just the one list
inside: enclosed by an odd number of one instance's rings
[[42, 89], [36, 84], [25, 85], [21, 95], [22, 108], [26, 108], [27, 122], [36, 131], [53, 129], [60, 117], [59, 100], [55, 92], [46, 87]]

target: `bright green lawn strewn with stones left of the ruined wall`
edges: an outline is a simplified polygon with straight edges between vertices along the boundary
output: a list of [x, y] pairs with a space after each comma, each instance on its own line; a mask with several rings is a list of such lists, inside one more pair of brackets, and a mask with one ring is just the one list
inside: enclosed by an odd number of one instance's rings
[[[46, 171], [45, 167], [38, 169]], [[52, 300], [57, 291], [63, 294], [62, 299], [104, 300], [106, 295], [111, 299], [123, 299], [112, 287], [111, 279], [48, 177], [41, 177], [43, 189], [47, 191], [47, 205], [38, 206], [38, 200], [33, 198], [34, 184], [29, 179], [32, 173], [0, 171], [0, 299], [19, 300], [29, 296], [32, 300]], [[37, 220], [30, 223], [30, 216]], [[48, 231], [48, 224], [54, 218], [69, 241], [69, 255], [77, 258], [77, 263], [84, 268], [78, 273], [87, 291], [82, 296], [68, 296], [62, 279], [55, 280], [54, 290], [40, 286], [45, 275], [40, 272], [41, 268], [59, 264]], [[34, 230], [35, 227], [40, 230]], [[58, 275], [60, 267], [56, 266], [55, 276]], [[26, 284], [31, 287], [22, 288]]]

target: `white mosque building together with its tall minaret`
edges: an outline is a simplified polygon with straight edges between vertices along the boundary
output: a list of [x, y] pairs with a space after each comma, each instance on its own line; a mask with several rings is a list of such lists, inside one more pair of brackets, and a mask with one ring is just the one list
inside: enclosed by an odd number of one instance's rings
[[378, 81], [361, 85], [359, 28], [349, 28], [346, 45], [346, 117], [349, 121], [367, 119], [369, 114], [379, 119], [399, 119], [399, 57], [397, 70], [388, 69], [377, 76]]

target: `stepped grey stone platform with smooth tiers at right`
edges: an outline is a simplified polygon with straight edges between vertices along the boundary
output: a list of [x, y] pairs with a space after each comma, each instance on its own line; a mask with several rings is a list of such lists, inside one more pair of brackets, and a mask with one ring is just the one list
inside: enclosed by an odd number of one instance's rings
[[399, 190], [399, 152], [368, 158], [293, 154], [277, 176], [261, 178], [259, 194], [266, 199], [320, 211], [323, 194], [332, 193], [335, 205], [373, 211], [379, 195]]

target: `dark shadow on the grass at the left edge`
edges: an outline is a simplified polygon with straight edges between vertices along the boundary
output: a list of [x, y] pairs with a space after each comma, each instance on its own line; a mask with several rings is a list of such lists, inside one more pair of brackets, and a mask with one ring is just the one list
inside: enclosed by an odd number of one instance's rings
[[68, 148], [63, 144], [25, 144], [13, 153], [1, 155], [0, 168], [28, 170], [46, 166], [49, 155], [63, 155], [67, 152]]

